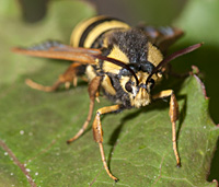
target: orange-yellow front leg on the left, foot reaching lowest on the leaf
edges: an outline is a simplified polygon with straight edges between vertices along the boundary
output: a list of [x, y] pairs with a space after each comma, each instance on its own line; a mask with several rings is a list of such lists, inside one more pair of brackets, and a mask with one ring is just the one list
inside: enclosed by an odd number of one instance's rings
[[96, 115], [95, 115], [95, 118], [94, 118], [94, 121], [93, 121], [93, 137], [94, 137], [94, 140], [99, 143], [104, 168], [105, 168], [106, 173], [108, 174], [108, 176], [111, 178], [113, 178], [115, 182], [117, 182], [118, 179], [115, 176], [113, 176], [112, 173], [110, 172], [107, 163], [106, 163], [105, 154], [104, 154], [103, 130], [102, 130], [102, 125], [101, 125], [101, 115], [112, 113], [112, 112], [116, 112], [118, 109], [120, 109], [120, 105], [113, 105], [113, 106], [100, 108], [96, 112]]

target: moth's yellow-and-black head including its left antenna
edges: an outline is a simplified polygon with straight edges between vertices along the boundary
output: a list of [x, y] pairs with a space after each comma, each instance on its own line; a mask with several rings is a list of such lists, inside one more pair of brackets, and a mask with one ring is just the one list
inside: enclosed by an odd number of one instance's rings
[[97, 58], [122, 67], [117, 78], [120, 86], [127, 93], [127, 100], [130, 102], [131, 106], [139, 108], [150, 103], [150, 91], [154, 86], [155, 81], [160, 78], [158, 74], [154, 74], [153, 78], [147, 82], [149, 74], [155, 68], [152, 62], [145, 60], [138, 63], [127, 65], [110, 57], [97, 56]]

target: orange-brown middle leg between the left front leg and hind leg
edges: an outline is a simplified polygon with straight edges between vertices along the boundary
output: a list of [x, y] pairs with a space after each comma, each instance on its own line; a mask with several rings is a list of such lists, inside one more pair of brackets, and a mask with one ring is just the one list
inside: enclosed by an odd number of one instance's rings
[[69, 139], [67, 141], [67, 143], [70, 143], [70, 142], [77, 140], [85, 131], [85, 129], [91, 120], [92, 114], [93, 114], [94, 100], [96, 97], [96, 93], [99, 92], [101, 81], [102, 81], [102, 77], [95, 77], [90, 82], [90, 84], [89, 84], [90, 106], [89, 106], [89, 114], [88, 114], [87, 120], [83, 124], [82, 128], [78, 131], [78, 133], [73, 138]]

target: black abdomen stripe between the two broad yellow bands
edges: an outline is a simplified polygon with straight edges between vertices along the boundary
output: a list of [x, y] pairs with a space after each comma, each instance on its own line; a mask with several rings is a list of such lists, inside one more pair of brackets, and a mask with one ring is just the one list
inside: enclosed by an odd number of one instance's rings
[[108, 21], [113, 21], [113, 20], [119, 21], [118, 19], [114, 19], [114, 17], [103, 17], [102, 20], [97, 20], [97, 21], [93, 22], [92, 24], [90, 24], [90, 25], [84, 30], [83, 34], [81, 35], [81, 38], [80, 38], [80, 42], [79, 42], [79, 47], [83, 47], [87, 36], [89, 35], [89, 33], [90, 33], [95, 26], [97, 26], [97, 25], [101, 24], [101, 23], [108, 22]]

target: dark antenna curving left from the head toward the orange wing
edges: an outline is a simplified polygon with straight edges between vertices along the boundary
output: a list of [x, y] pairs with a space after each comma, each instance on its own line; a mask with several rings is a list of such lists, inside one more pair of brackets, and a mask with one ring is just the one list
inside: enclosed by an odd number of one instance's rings
[[131, 70], [126, 63], [124, 63], [123, 61], [119, 61], [119, 60], [116, 60], [114, 58], [110, 58], [110, 57], [105, 57], [105, 56], [102, 56], [102, 55], [94, 55], [94, 57], [96, 57], [97, 59], [101, 59], [101, 60], [106, 60], [108, 62], [112, 62], [114, 65], [117, 65], [119, 67], [123, 67], [125, 69], [127, 69], [128, 71], [130, 71], [130, 73], [134, 75], [134, 78], [136, 79], [136, 83], [137, 85], [139, 84], [139, 81], [138, 81], [138, 78], [136, 75], [136, 73], [134, 72], [134, 70]]

